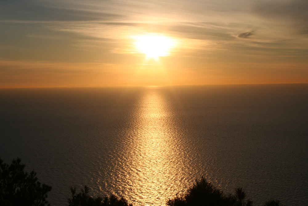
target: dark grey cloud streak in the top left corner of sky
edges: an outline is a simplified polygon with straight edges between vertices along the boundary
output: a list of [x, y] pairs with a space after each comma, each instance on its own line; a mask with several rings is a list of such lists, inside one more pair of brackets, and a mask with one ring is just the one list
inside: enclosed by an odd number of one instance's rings
[[1, 20], [22, 21], [94, 21], [120, 18], [107, 10], [95, 11], [64, 1], [0, 1]]

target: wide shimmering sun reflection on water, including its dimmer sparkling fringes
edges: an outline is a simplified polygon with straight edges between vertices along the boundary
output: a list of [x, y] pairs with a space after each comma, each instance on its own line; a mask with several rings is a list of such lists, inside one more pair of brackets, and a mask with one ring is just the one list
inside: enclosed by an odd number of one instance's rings
[[144, 88], [136, 94], [124, 111], [126, 122], [118, 125], [113, 144], [99, 159], [93, 181], [97, 194], [124, 196], [136, 206], [166, 205], [201, 171], [196, 146], [168, 90]]

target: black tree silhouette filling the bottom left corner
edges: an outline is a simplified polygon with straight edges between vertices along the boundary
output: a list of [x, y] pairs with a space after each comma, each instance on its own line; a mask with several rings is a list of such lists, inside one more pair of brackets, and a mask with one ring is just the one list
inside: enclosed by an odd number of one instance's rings
[[37, 181], [36, 172], [24, 171], [20, 158], [11, 165], [0, 158], [0, 205], [3, 206], [45, 206], [49, 205], [47, 192], [51, 187]]

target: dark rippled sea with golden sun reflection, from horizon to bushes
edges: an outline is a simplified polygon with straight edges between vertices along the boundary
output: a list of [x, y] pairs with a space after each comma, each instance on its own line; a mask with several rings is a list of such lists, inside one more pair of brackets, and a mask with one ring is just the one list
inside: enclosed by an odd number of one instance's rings
[[202, 175], [254, 205], [308, 205], [308, 84], [0, 89], [0, 157], [52, 205], [84, 185], [165, 205]]

